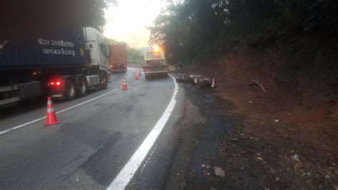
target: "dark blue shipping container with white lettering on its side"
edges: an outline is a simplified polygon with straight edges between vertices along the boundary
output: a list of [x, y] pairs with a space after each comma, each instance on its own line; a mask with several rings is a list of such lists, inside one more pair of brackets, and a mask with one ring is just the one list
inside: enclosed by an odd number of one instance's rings
[[18, 39], [0, 36], [0, 69], [86, 64], [83, 30], [34, 34]]

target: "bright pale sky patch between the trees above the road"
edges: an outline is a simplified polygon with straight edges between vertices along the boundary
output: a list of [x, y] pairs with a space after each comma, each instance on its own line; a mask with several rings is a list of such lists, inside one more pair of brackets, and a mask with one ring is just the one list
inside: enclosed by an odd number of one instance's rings
[[163, 0], [118, 0], [117, 6], [106, 9], [104, 35], [133, 48], [149, 46], [150, 31], [145, 27], [153, 25], [163, 6]]

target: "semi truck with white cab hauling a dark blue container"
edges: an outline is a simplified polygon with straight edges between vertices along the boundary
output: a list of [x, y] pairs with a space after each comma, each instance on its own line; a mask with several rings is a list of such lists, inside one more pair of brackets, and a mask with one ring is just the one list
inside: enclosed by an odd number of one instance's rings
[[44, 94], [71, 100], [108, 86], [110, 52], [96, 29], [1, 34], [0, 105]]

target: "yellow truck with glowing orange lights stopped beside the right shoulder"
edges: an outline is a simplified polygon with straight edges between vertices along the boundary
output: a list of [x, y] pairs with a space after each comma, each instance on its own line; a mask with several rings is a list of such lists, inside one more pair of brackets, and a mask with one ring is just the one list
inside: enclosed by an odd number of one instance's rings
[[162, 49], [155, 46], [145, 51], [145, 64], [143, 65], [145, 79], [151, 76], [168, 76], [168, 65], [165, 64], [165, 54]]

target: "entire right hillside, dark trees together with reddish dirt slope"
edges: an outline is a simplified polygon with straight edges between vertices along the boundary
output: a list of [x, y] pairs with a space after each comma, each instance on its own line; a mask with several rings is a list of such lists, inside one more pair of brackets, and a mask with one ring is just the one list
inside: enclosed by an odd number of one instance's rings
[[235, 107], [220, 115], [240, 118], [245, 134], [265, 142], [287, 184], [337, 189], [337, 7], [187, 0], [158, 16], [152, 40], [180, 72], [217, 79], [215, 93]]

